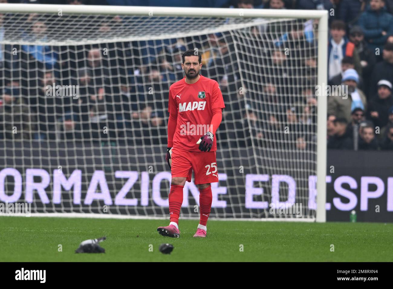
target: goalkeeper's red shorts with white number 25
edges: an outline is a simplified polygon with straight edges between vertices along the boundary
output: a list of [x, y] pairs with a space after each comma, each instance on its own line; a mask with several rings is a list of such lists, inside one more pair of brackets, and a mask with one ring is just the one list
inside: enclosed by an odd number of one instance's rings
[[219, 181], [215, 151], [186, 151], [172, 148], [172, 177], [185, 177], [191, 182], [194, 171], [195, 184]]

